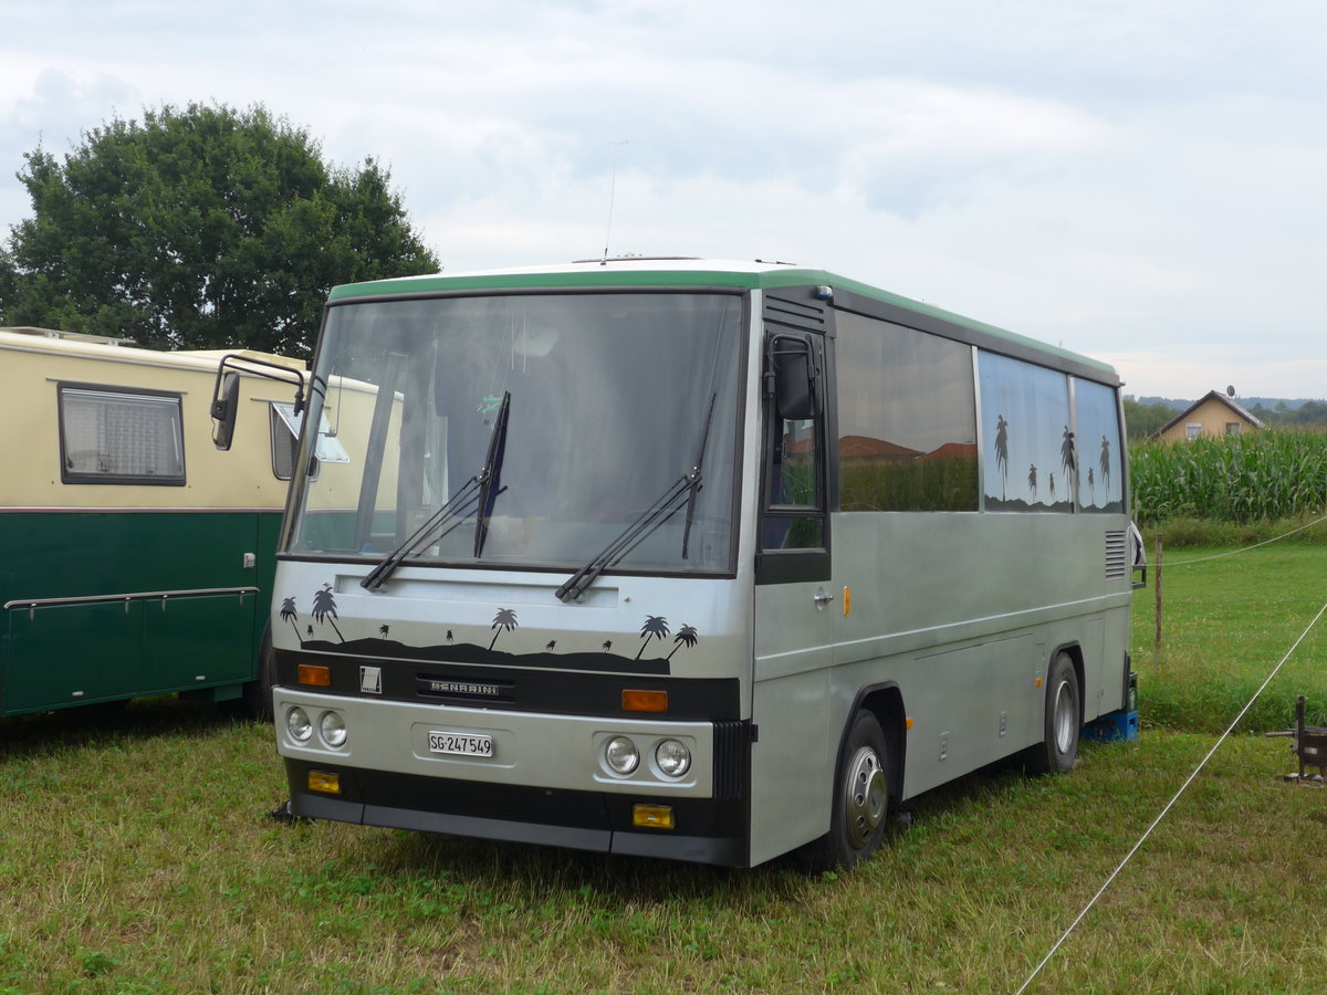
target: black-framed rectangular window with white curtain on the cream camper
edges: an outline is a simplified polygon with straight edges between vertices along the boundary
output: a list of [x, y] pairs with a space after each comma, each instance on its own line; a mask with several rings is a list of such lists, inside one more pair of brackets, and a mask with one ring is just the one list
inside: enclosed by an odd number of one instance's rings
[[58, 391], [64, 483], [184, 486], [179, 394], [84, 383]]

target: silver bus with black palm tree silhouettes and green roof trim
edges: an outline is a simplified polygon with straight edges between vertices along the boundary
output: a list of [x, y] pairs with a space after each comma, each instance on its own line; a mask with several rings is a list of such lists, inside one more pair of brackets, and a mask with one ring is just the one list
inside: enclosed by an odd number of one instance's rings
[[1067, 771], [1131, 694], [1119, 390], [779, 263], [333, 289], [305, 425], [361, 443], [277, 545], [289, 813], [831, 868], [1001, 758]]

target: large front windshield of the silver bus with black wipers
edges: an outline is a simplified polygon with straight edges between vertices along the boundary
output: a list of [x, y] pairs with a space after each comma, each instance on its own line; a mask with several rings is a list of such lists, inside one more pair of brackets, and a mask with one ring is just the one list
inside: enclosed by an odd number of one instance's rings
[[705, 292], [333, 306], [312, 423], [349, 459], [297, 482], [287, 552], [362, 557], [380, 581], [731, 572], [743, 310]]

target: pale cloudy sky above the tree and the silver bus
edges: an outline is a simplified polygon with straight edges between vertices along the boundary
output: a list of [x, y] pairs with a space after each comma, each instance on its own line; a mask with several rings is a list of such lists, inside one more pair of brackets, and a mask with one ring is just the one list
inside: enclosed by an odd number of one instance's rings
[[0, 239], [25, 153], [190, 102], [377, 159], [446, 272], [776, 259], [1327, 397], [1320, 0], [0, 0]]

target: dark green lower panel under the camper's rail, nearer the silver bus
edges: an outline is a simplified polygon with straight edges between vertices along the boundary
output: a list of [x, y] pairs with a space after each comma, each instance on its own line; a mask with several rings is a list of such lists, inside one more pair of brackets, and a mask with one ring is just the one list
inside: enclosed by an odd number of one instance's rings
[[256, 594], [194, 596], [146, 602], [139, 685], [142, 691], [179, 691], [251, 681], [257, 608]]

